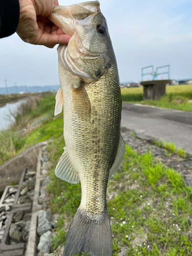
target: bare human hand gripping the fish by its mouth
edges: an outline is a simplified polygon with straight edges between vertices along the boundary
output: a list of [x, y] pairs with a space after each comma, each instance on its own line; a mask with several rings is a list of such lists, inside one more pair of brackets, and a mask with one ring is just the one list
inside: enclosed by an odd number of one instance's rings
[[47, 18], [58, 5], [57, 0], [19, 0], [20, 16], [16, 33], [23, 41], [33, 45], [53, 48], [56, 44], [67, 44], [71, 36]]

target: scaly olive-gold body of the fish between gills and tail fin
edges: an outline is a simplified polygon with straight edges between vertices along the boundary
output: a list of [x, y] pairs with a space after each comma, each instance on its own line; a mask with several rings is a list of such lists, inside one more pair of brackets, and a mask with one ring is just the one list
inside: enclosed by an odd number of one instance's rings
[[[60, 75], [62, 77], [62, 74]], [[62, 78], [61, 78], [62, 79]], [[72, 87], [63, 86], [64, 134], [69, 157], [75, 159], [81, 181], [80, 209], [91, 219], [106, 211], [106, 185], [120, 135], [121, 93], [117, 68], [86, 86], [91, 118], [74, 111]], [[103, 87], [103, 82], [109, 86]], [[79, 168], [79, 164], [81, 169]], [[75, 164], [74, 164], [75, 165]]]

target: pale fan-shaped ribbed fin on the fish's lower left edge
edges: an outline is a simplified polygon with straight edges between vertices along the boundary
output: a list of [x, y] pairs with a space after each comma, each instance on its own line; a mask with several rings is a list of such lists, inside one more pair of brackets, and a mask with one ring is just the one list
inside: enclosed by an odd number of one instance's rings
[[64, 147], [64, 153], [56, 166], [55, 175], [69, 183], [77, 184], [79, 182], [79, 175], [75, 172], [71, 164], [66, 147]]

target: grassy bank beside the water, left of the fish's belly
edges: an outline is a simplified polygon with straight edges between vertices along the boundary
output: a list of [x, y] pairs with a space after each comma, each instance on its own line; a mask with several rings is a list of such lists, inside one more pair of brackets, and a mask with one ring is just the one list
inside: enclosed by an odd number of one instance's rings
[[3, 164], [39, 141], [47, 140], [51, 136], [57, 137], [58, 133], [60, 136], [61, 128], [59, 131], [52, 128], [57, 128], [58, 123], [60, 125], [63, 122], [62, 117], [54, 118], [55, 122], [53, 122], [53, 115], [49, 119], [42, 121], [39, 129], [29, 129], [29, 132], [19, 134], [19, 131], [25, 126], [29, 126], [40, 117], [52, 113], [54, 111], [54, 104], [55, 96], [48, 93], [40, 99], [29, 98], [25, 104], [23, 103], [20, 106], [17, 112], [11, 113], [15, 123], [8, 130], [0, 131], [0, 164]]

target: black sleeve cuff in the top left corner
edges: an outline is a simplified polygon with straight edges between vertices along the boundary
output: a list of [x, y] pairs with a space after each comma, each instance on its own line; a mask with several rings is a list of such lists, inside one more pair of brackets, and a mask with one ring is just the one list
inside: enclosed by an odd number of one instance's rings
[[19, 21], [19, 1], [0, 0], [0, 38], [12, 35]]

